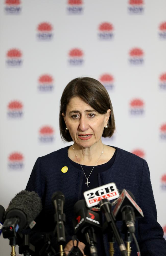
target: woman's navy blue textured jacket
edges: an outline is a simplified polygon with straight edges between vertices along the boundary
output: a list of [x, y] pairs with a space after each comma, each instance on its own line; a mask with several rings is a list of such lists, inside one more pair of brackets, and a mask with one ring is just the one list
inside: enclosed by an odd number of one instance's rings
[[[116, 147], [115, 147], [116, 148]], [[67, 239], [74, 234], [72, 226], [73, 206], [80, 200], [83, 172], [76, 169], [69, 161], [68, 147], [39, 157], [33, 167], [26, 190], [35, 191], [42, 199], [43, 210], [40, 215], [41, 223], [46, 223], [45, 231], [54, 230], [54, 208], [51, 203], [52, 194], [62, 191], [66, 201], [64, 213], [66, 214]], [[99, 185], [114, 182], [117, 188], [128, 189], [135, 196], [136, 202], [143, 210], [144, 218], [136, 221], [136, 232], [141, 256], [165, 256], [166, 243], [163, 230], [157, 222], [157, 211], [150, 183], [150, 173], [147, 162], [127, 151], [116, 148], [116, 157], [111, 168], [98, 174]], [[62, 173], [63, 166], [68, 167]], [[117, 223], [121, 228], [121, 223]], [[43, 226], [43, 225], [41, 225]], [[123, 235], [122, 235], [123, 236]], [[103, 235], [105, 253], [109, 256], [107, 235]], [[120, 256], [115, 245], [115, 256]], [[137, 255], [137, 249], [132, 242], [131, 255]]]

